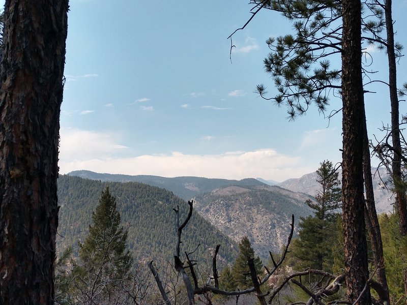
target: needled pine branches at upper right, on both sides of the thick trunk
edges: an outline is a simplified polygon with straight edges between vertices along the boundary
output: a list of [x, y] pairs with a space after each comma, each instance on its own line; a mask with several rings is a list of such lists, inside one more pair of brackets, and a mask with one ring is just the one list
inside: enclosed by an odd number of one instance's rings
[[[337, 0], [251, 0], [251, 4], [281, 13], [293, 21], [293, 34], [271, 37], [266, 43], [271, 52], [263, 63], [277, 88], [274, 97], [267, 98], [263, 84], [256, 87], [260, 96], [287, 107], [289, 119], [303, 115], [311, 104], [320, 112], [329, 105], [329, 96], [341, 94], [342, 6]], [[362, 2], [362, 52], [370, 45], [386, 49], [387, 37], [384, 7], [374, 1]], [[394, 44], [396, 57], [402, 46]], [[369, 54], [366, 58], [371, 58]], [[338, 60], [335, 60], [338, 59]], [[366, 60], [366, 66], [371, 64]], [[367, 70], [362, 73], [368, 74]]]

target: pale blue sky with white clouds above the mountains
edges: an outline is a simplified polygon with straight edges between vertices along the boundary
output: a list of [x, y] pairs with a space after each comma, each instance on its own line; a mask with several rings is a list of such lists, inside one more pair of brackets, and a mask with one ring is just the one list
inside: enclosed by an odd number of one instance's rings
[[[329, 120], [310, 107], [289, 121], [284, 107], [254, 93], [263, 83], [275, 94], [265, 41], [288, 34], [292, 23], [260, 12], [233, 36], [229, 59], [227, 37], [250, 17], [247, 3], [70, 0], [60, 173], [283, 181], [323, 160], [340, 162], [341, 113]], [[393, 12], [396, 41], [407, 45], [407, 2], [393, 2]], [[371, 53], [369, 69], [386, 80], [386, 54]], [[406, 68], [401, 58], [399, 85]], [[374, 91], [366, 95], [373, 139], [390, 122], [387, 87]], [[340, 100], [330, 102], [328, 114], [340, 109]]]

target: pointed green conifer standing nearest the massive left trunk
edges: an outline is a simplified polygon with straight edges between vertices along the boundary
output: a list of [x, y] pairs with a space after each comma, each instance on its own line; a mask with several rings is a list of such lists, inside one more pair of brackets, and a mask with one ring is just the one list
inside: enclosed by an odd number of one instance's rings
[[94, 301], [96, 295], [110, 296], [114, 286], [128, 276], [132, 257], [126, 247], [127, 231], [120, 226], [120, 221], [116, 199], [106, 187], [92, 214], [89, 234], [79, 243], [76, 272], [82, 279], [81, 290], [85, 292], [86, 302]]

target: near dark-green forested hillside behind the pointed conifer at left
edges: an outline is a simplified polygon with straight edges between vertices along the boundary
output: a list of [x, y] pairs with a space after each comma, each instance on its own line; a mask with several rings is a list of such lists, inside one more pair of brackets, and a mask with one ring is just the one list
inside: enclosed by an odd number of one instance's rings
[[[102, 182], [61, 175], [58, 179], [58, 198], [61, 206], [57, 249], [62, 251], [77, 246], [84, 239], [91, 224], [92, 212], [102, 190], [109, 186], [117, 198], [122, 223], [128, 229], [128, 246], [136, 260], [172, 260], [175, 249], [175, 212], [178, 205], [181, 220], [186, 217], [188, 204], [172, 192], [138, 182]], [[232, 261], [237, 255], [236, 245], [194, 211], [183, 231], [182, 251], [194, 253], [194, 258], [210, 256], [212, 248], [220, 243], [220, 257]]]

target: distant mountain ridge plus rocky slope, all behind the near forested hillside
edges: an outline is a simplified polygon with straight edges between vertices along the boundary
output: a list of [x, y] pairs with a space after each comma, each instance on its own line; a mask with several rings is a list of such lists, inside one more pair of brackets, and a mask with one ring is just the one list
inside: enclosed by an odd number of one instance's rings
[[75, 171], [69, 175], [99, 181], [138, 181], [165, 188], [184, 200], [193, 199], [195, 210], [203, 218], [236, 242], [248, 236], [256, 253], [263, 258], [269, 256], [269, 251], [279, 251], [286, 242], [292, 214], [296, 224], [300, 217], [311, 214], [305, 204], [310, 196], [268, 186], [256, 179], [165, 178], [91, 171]]

